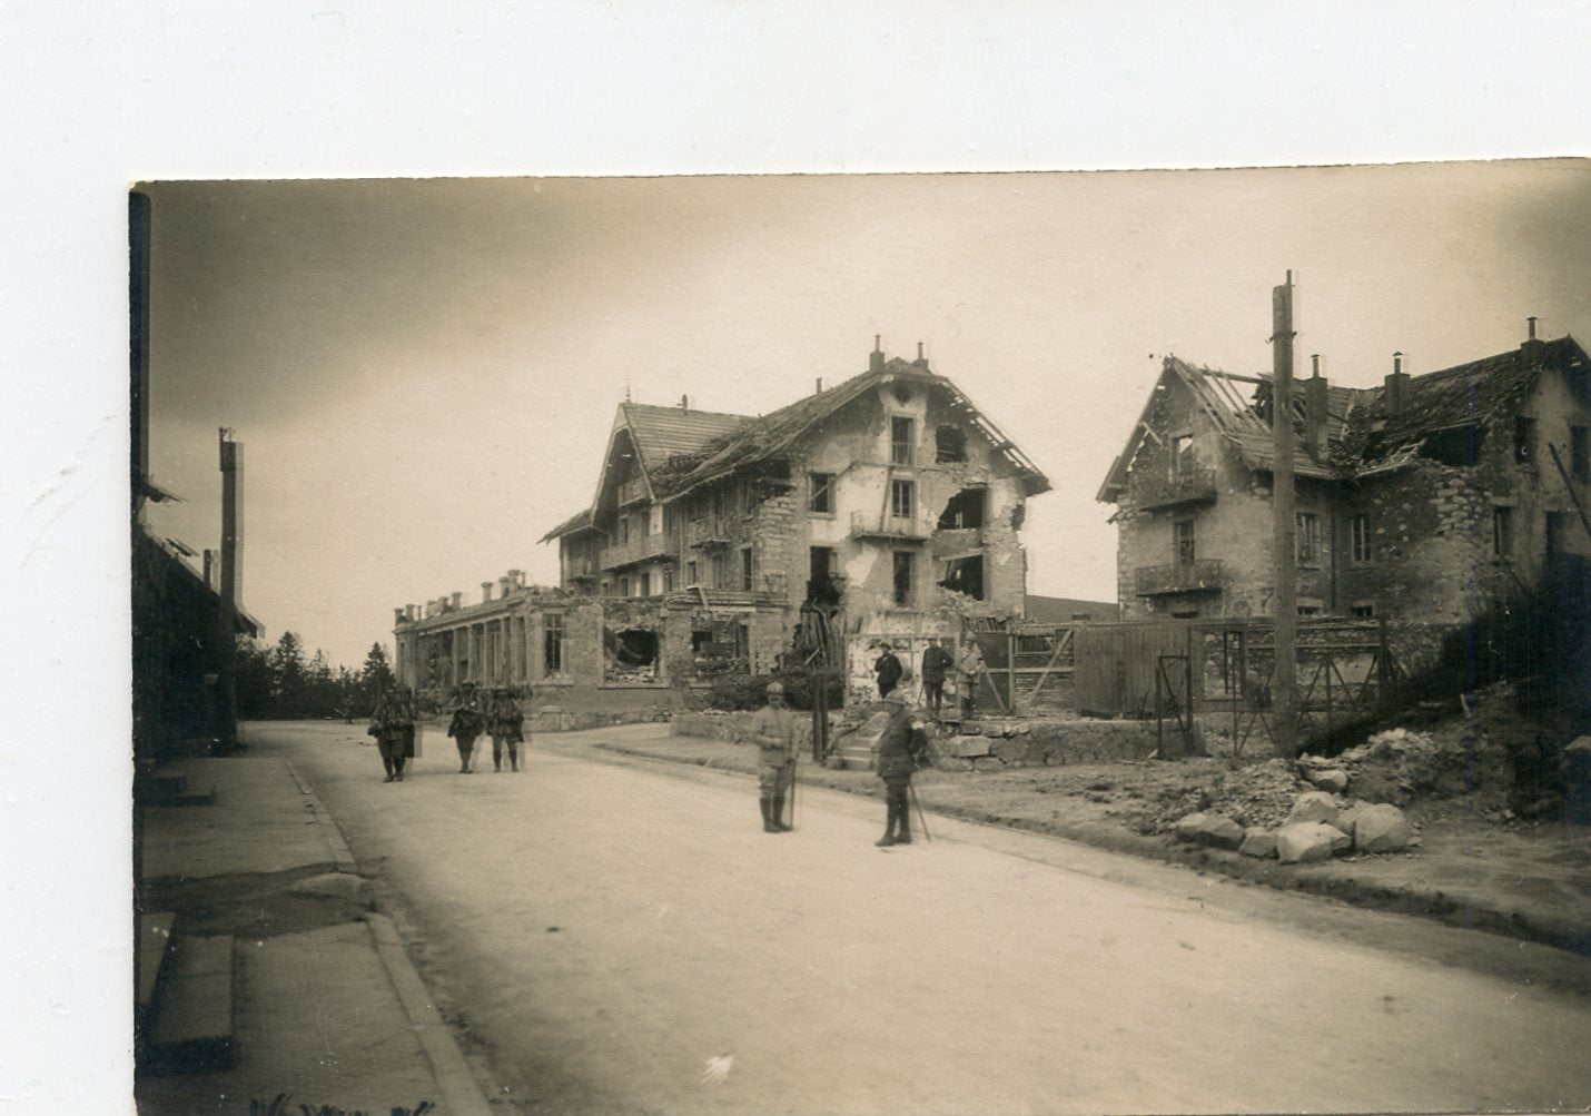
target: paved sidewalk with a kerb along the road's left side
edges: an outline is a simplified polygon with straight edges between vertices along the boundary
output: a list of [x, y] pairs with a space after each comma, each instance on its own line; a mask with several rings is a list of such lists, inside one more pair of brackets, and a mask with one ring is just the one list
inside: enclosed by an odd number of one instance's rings
[[[232, 1068], [140, 1075], [140, 1113], [490, 1108], [336, 823], [280, 759], [188, 759], [208, 806], [143, 807], [146, 911], [234, 939]], [[274, 1106], [272, 1106], [274, 1105]]]

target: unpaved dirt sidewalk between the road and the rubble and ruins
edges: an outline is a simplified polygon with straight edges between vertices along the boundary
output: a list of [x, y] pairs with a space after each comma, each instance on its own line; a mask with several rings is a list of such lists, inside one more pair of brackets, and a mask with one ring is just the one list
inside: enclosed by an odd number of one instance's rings
[[[665, 724], [635, 724], [541, 736], [608, 751], [756, 774], [751, 748], [727, 740], [670, 736]], [[1109, 852], [1179, 863], [1251, 884], [1309, 892], [1354, 906], [1438, 919], [1448, 925], [1556, 946], [1591, 955], [1591, 834], [1567, 825], [1534, 831], [1448, 817], [1426, 823], [1406, 853], [1278, 864], [1235, 852], [1200, 849], [1138, 833], [1111, 802], [1079, 793], [1107, 764], [916, 777], [931, 814], [1064, 837]], [[880, 798], [870, 771], [829, 771], [802, 763], [800, 782]], [[881, 815], [880, 815], [881, 817]]]

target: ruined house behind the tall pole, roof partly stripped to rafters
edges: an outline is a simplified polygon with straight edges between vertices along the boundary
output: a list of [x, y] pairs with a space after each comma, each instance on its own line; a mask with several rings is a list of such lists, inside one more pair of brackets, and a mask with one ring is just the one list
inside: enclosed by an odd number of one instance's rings
[[[1465, 622], [1591, 554], [1591, 361], [1573, 338], [1381, 387], [1295, 380], [1300, 615]], [[1165, 360], [1098, 498], [1130, 618], [1271, 611], [1270, 377]]]

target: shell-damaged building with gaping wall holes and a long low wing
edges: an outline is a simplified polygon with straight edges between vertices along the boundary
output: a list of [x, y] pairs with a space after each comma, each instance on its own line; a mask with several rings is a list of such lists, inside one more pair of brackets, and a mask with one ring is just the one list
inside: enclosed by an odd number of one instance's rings
[[[597, 494], [554, 527], [560, 584], [519, 572], [396, 613], [399, 677], [651, 689], [768, 673], [823, 630], [861, 694], [902, 661], [1020, 616], [1026, 500], [1045, 476], [928, 360], [767, 416], [622, 403]], [[493, 592], [496, 591], [496, 592]]]

